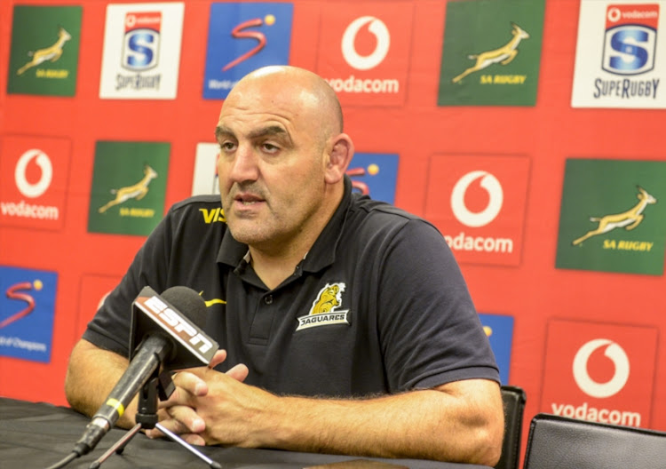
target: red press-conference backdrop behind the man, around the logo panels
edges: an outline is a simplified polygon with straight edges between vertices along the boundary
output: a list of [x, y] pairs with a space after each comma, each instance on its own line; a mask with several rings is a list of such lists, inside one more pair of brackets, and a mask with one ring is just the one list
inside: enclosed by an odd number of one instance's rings
[[[479, 311], [512, 319], [512, 329], [503, 338], [509, 347], [508, 383], [527, 392], [526, 425], [539, 411], [566, 412], [569, 405], [570, 414], [578, 409], [576, 417], [584, 417], [583, 410], [592, 407], [632, 409], [641, 415], [639, 425], [666, 430], [666, 374], [662, 371], [666, 347], [659, 339], [666, 331], [663, 274], [556, 267], [567, 159], [660, 162], [666, 116], [661, 109], [572, 107], [579, 0], [548, 0], [545, 4], [543, 39], [536, 51], [539, 71], [530, 78], [538, 80], [533, 106], [438, 105], [446, 17], [452, 3], [424, 0], [393, 5], [407, 8], [412, 15], [411, 26], [407, 21], [405, 24], [411, 30], [403, 35], [410, 44], [408, 64], [403, 64], [406, 68], [402, 70], [406, 78], [400, 83], [402, 102], [382, 106], [376, 104], [376, 97], [371, 105], [352, 102], [345, 107], [345, 130], [352, 135], [358, 152], [399, 155], [395, 204], [422, 216], [444, 213], [436, 221], [442, 232], [448, 231], [448, 200], [441, 195], [448, 196], [447, 185], [456, 182], [447, 182], [445, 176], [449, 170], [457, 171], [457, 162], [479, 163], [460, 171], [490, 171], [502, 182], [505, 201], [513, 197], [515, 219], [507, 222], [513, 230], [511, 260], [468, 261], [460, 251], [456, 256]], [[69, 352], [94, 314], [100, 293], [112, 288], [145, 239], [144, 235], [89, 232], [96, 145], [113, 140], [170, 142], [163, 209], [191, 195], [195, 148], [198, 143], [213, 141], [222, 102], [202, 97], [211, 2], [185, 3], [176, 99], [99, 98], [107, 2], [96, 0], [58, 2], [83, 7], [75, 95], [8, 93], [8, 76], [14, 73], [9, 69], [12, 16], [19, 4], [47, 3], [10, 0], [0, 4], [0, 136], [4, 139], [0, 162], [13, 161], [8, 148], [17, 136], [65, 139], [70, 147], [60, 226], [0, 225], [0, 266], [55, 272], [58, 276], [50, 360], [2, 356], [0, 347], [0, 394], [64, 404]], [[320, 34], [330, 20], [327, 12], [331, 4], [344, 16], [345, 9], [353, 15], [353, 9], [364, 3], [294, 0], [292, 4], [289, 63], [318, 71]], [[377, 10], [374, 14], [381, 18], [390, 13], [391, 4], [367, 6]], [[505, 29], [506, 37], [498, 44], [510, 37], [509, 27]], [[603, 24], [600, 29], [603, 32]], [[514, 65], [519, 58], [514, 59]], [[401, 67], [400, 62], [396, 67]], [[497, 69], [490, 73], [497, 73]], [[496, 158], [500, 158], [499, 163]], [[506, 165], [511, 162], [518, 162], [517, 169]], [[13, 171], [13, 163], [5, 166], [5, 173]], [[500, 176], [503, 168], [506, 174]], [[432, 180], [432, 171], [440, 171], [435, 174], [442, 178]], [[599, 171], [603, 172], [603, 167]], [[2, 184], [10, 183], [11, 175], [2, 179]], [[633, 188], [637, 183], [631, 182], [622, 210], [636, 203]], [[653, 191], [666, 195], [665, 189], [662, 181]], [[435, 196], [440, 199], [432, 199]], [[654, 196], [659, 199], [658, 194]], [[643, 223], [647, 223], [649, 210], [653, 209], [646, 209]], [[583, 224], [583, 232], [585, 227]], [[459, 231], [451, 228], [449, 235]], [[473, 233], [473, 228], [465, 231]], [[664, 238], [664, 233], [659, 235]], [[10, 300], [0, 303], [4, 309], [0, 321], [15, 314], [12, 305], [15, 303]], [[15, 324], [28, 320], [29, 316]], [[638, 335], [632, 335], [636, 330]], [[2, 332], [0, 329], [0, 336]], [[580, 342], [575, 342], [579, 337]], [[630, 370], [635, 371], [626, 387], [635, 391], [624, 397], [618, 393], [612, 398], [615, 401], [576, 394], [580, 391], [573, 387], [573, 354], [583, 342], [595, 338], [622, 346]], [[641, 349], [637, 341], [647, 346]], [[603, 357], [595, 360], [604, 361]], [[638, 370], [638, 362], [646, 364]], [[617, 373], [622, 364], [614, 364], [615, 369], [592, 374], [592, 380], [603, 382], [609, 374]], [[634, 409], [630, 400], [637, 397], [642, 402]]]

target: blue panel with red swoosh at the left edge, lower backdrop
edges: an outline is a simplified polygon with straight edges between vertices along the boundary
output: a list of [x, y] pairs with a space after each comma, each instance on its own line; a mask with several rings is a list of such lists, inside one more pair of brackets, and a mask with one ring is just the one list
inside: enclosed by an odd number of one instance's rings
[[0, 266], [0, 355], [51, 362], [58, 274]]

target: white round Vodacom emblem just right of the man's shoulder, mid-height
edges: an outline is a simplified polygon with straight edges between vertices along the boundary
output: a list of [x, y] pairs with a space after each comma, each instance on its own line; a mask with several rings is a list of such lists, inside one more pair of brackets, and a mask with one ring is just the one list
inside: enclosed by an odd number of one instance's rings
[[[480, 185], [488, 192], [488, 206], [479, 212], [470, 211], [464, 203], [464, 195], [472, 182], [481, 179]], [[461, 223], [467, 227], [483, 227], [493, 221], [502, 210], [504, 195], [502, 185], [488, 171], [471, 171], [458, 179], [451, 192], [451, 209]]]

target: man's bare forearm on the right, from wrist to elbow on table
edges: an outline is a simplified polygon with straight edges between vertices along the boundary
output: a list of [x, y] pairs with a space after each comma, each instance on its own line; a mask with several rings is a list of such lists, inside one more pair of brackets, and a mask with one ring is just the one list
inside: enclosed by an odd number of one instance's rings
[[495, 465], [501, 452], [503, 414], [499, 392], [494, 394], [484, 393], [485, 402], [478, 401], [479, 394], [470, 397], [434, 389], [356, 401], [278, 397], [250, 417], [258, 433], [245, 443]]

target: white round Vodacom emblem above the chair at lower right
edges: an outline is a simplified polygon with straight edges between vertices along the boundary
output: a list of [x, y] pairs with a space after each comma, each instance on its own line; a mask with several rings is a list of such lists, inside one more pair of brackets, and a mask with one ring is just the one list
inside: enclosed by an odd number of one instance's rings
[[[604, 354], [613, 361], [615, 372], [606, 383], [598, 383], [590, 378], [587, 362], [590, 355], [599, 347], [607, 346]], [[619, 393], [629, 378], [629, 358], [621, 346], [607, 338], [595, 338], [578, 350], [574, 358], [574, 379], [583, 393], [592, 397], [610, 397]]]

